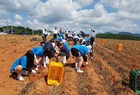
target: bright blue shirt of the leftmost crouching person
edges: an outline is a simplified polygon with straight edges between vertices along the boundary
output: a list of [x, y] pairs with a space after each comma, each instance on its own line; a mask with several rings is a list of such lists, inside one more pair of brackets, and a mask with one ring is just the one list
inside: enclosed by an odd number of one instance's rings
[[22, 68], [26, 69], [27, 66], [27, 57], [24, 55], [21, 58], [18, 58], [13, 65], [11, 66], [10, 72], [14, 73], [14, 69], [15, 67], [17, 67], [18, 65], [21, 65]]

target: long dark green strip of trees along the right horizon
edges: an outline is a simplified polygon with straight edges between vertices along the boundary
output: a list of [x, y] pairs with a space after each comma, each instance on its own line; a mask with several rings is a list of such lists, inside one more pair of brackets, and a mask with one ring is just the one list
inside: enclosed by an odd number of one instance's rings
[[121, 40], [140, 40], [140, 37], [135, 37], [131, 35], [119, 35], [119, 34], [97, 34], [97, 38], [107, 38], [107, 39], [121, 39]]

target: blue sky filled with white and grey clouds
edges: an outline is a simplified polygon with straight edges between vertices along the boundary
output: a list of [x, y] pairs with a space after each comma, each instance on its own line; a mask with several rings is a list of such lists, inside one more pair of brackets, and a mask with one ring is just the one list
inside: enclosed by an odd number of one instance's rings
[[0, 0], [0, 27], [140, 33], [140, 0]]

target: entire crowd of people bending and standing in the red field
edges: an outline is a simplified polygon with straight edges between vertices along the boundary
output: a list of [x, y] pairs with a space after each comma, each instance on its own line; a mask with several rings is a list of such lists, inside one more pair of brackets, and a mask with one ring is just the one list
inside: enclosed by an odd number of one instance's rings
[[[31, 48], [22, 57], [16, 59], [10, 68], [10, 72], [17, 74], [18, 80], [24, 80], [23, 75], [28, 73], [36, 73], [38, 66], [47, 68], [50, 63], [50, 59], [55, 57], [58, 62], [63, 65], [66, 64], [67, 60], [72, 54], [72, 58], [75, 59], [75, 69], [77, 73], [83, 73], [81, 70], [82, 63], [88, 64], [88, 55], [92, 58], [93, 54], [93, 42], [95, 40], [95, 31], [91, 30], [90, 36], [77, 35], [76, 33], [70, 34], [62, 30], [58, 32], [57, 27], [53, 30], [53, 38], [47, 41], [47, 30], [42, 31], [42, 39], [44, 44]], [[71, 35], [71, 36], [69, 36]], [[68, 39], [71, 38], [74, 41], [72, 47], [67, 43]]]

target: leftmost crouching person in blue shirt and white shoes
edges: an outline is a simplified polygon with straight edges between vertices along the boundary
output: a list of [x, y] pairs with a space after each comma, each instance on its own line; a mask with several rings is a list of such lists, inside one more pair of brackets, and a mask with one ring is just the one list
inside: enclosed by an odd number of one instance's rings
[[22, 71], [32, 71], [36, 73], [32, 68], [36, 65], [34, 62], [34, 53], [29, 50], [25, 55], [16, 59], [16, 61], [12, 64], [10, 68], [10, 73], [16, 73], [17, 79], [23, 81]]

